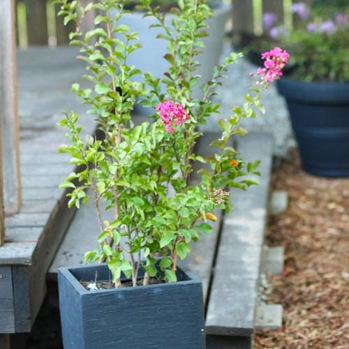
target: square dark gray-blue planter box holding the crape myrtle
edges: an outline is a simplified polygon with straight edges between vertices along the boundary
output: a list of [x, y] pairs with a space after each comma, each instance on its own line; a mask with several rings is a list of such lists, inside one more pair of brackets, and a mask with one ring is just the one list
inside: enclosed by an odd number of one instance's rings
[[85, 290], [79, 280], [96, 272], [97, 280], [110, 279], [107, 265], [58, 271], [65, 349], [205, 348], [202, 284], [186, 267], [177, 268], [177, 283]]

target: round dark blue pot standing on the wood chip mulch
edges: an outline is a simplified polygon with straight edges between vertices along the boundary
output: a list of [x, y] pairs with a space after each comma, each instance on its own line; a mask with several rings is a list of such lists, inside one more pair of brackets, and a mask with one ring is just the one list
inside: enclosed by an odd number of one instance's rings
[[285, 96], [306, 172], [349, 176], [349, 83], [277, 81]]

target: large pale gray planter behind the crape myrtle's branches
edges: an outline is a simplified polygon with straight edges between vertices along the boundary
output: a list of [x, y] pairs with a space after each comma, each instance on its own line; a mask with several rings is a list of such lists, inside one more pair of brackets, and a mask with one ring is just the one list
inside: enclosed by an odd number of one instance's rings
[[[201, 66], [195, 73], [202, 76], [199, 84], [194, 88], [193, 96], [200, 98], [202, 92], [200, 90], [201, 84], [211, 80], [212, 71], [218, 65], [221, 57], [223, 38], [225, 36], [225, 24], [232, 14], [232, 5], [226, 3], [214, 3], [214, 14], [211, 19], [207, 21], [209, 25], [209, 36], [202, 38], [206, 47], [203, 48], [203, 53], [199, 54], [196, 59], [200, 61]], [[112, 11], [112, 10], [111, 10]], [[111, 13], [114, 15], [113, 13]], [[143, 73], [153, 73], [155, 77], [164, 78], [165, 73], [170, 64], [163, 57], [167, 53], [167, 40], [156, 38], [158, 34], [165, 34], [165, 30], [160, 27], [150, 28], [151, 24], [157, 24], [154, 17], [142, 18], [144, 13], [124, 13], [119, 20], [119, 24], [125, 24], [131, 31], [137, 31], [140, 43], [143, 45], [139, 50], [135, 50], [128, 56], [128, 66], [135, 66], [142, 70]], [[165, 24], [172, 26], [172, 18], [174, 15], [168, 13], [166, 15]]]

